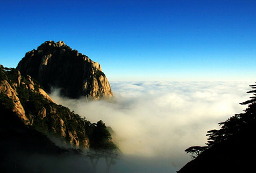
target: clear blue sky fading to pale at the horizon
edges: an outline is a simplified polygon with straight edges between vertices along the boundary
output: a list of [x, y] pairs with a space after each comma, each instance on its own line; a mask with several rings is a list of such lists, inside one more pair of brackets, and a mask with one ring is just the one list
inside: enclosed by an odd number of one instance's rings
[[1, 1], [0, 64], [64, 41], [110, 81], [256, 81], [255, 0]]

